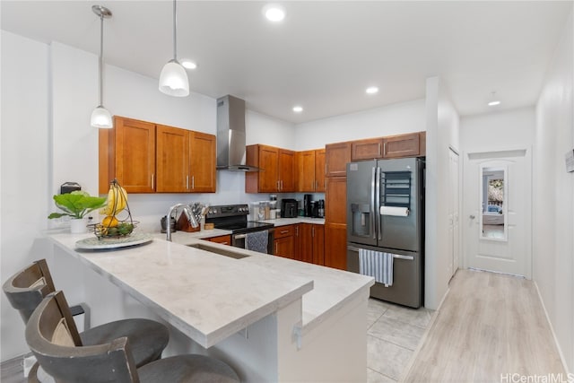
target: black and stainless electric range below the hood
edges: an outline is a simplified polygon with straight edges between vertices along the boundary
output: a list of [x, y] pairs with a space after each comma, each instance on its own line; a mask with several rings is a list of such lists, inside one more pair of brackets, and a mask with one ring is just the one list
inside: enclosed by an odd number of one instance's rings
[[268, 231], [267, 254], [273, 254], [274, 224], [248, 221], [248, 213], [247, 204], [210, 206], [205, 223], [213, 223], [215, 229], [231, 231], [231, 246], [236, 248], [245, 248], [248, 233]]

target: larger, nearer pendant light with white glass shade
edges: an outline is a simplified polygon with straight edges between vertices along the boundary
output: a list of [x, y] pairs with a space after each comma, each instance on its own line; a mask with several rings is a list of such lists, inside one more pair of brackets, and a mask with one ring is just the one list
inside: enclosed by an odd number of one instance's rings
[[170, 96], [186, 97], [189, 95], [189, 81], [186, 69], [178, 62], [177, 25], [176, 0], [173, 0], [173, 58], [161, 69], [160, 91]]

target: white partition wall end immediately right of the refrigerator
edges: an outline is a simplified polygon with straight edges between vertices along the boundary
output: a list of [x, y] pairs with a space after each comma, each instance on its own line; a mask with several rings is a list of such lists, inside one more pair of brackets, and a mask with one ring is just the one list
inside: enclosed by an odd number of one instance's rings
[[459, 151], [459, 118], [439, 77], [427, 79], [427, 170], [425, 217], [424, 306], [437, 309], [448, 291], [449, 147]]

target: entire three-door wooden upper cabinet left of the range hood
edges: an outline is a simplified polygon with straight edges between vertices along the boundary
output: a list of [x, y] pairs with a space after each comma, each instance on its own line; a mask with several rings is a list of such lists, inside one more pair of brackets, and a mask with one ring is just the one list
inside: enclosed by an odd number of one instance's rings
[[128, 193], [215, 192], [215, 135], [114, 117], [100, 129], [100, 194], [117, 178]]

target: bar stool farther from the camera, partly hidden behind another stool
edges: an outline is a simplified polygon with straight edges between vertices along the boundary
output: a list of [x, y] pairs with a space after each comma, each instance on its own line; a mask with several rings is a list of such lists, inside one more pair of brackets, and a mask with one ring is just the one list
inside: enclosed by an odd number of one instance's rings
[[[14, 274], [4, 283], [3, 290], [13, 308], [20, 311], [24, 324], [44, 297], [56, 291], [46, 259], [40, 259]], [[122, 336], [129, 339], [137, 367], [161, 358], [170, 340], [167, 326], [150, 319], [134, 318], [83, 331], [78, 345], [105, 344]]]

